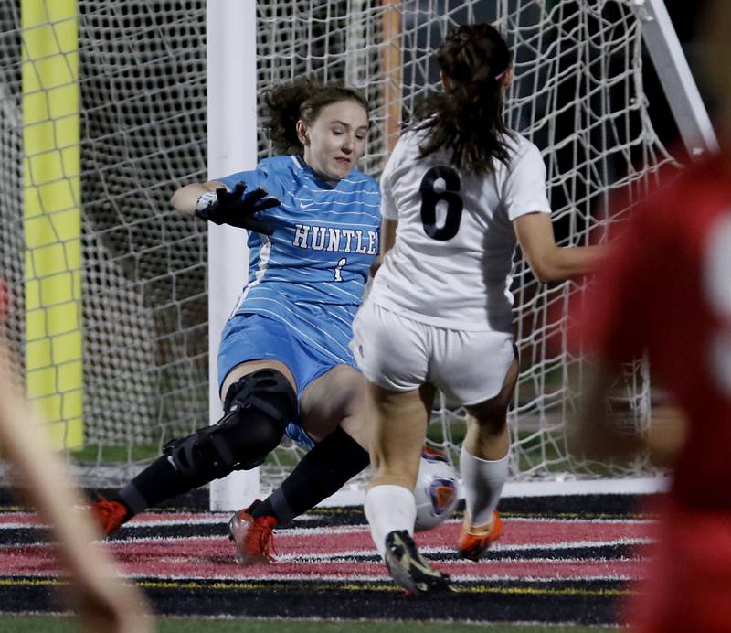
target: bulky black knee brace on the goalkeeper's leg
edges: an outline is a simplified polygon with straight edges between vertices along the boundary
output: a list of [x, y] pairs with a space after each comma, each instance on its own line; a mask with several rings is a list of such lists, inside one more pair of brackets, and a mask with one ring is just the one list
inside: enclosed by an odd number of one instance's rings
[[257, 467], [297, 414], [297, 396], [277, 370], [258, 370], [228, 388], [224, 416], [164, 447], [186, 477], [211, 481]]

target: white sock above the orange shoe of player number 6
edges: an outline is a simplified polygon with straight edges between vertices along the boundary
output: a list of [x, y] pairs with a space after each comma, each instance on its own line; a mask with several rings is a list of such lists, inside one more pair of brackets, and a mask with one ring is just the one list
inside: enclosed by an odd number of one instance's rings
[[460, 451], [460, 472], [464, 487], [464, 502], [471, 525], [483, 525], [493, 520], [493, 512], [508, 478], [508, 457], [491, 461]]

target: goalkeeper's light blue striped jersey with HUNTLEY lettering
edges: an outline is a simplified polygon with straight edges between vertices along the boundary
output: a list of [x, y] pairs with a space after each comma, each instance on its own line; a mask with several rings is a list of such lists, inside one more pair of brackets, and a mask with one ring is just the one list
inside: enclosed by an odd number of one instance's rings
[[249, 231], [249, 282], [232, 316], [277, 319], [334, 361], [351, 363], [351, 324], [378, 252], [376, 181], [354, 169], [331, 186], [302, 156], [274, 156], [216, 179], [281, 200], [257, 216], [270, 222], [271, 236]]

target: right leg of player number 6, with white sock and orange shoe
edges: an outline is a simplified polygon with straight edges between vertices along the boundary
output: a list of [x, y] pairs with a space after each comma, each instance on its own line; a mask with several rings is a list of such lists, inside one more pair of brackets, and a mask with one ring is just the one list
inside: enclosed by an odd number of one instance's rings
[[465, 512], [457, 545], [463, 558], [479, 559], [503, 531], [495, 509], [507, 478], [507, 410], [517, 379], [518, 361], [514, 359], [500, 392], [467, 407], [467, 434], [460, 455]]

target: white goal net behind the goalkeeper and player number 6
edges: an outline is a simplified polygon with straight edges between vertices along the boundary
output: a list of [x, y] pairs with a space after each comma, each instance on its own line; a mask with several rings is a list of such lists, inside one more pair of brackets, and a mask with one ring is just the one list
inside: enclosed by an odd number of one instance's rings
[[[636, 5], [260, 0], [252, 90], [302, 74], [362, 88], [373, 126], [361, 167], [377, 177], [401, 123], [437, 89], [432, 51], [457, 24], [493, 22], [515, 53], [508, 123], [542, 151], [560, 243], [584, 244], [673, 164], [648, 114]], [[168, 201], [207, 175], [206, 3], [4, 3], [0, 52], [5, 332], [58, 447], [88, 485], [116, 485], [207, 424], [207, 228]], [[614, 198], [626, 209], [609, 219]], [[641, 458], [607, 466], [568, 452], [582, 359], [567, 350], [567, 304], [580, 292], [516, 263], [514, 480], [648, 472]], [[616, 403], [628, 424], [648, 412], [641, 360]], [[440, 399], [430, 441], [456, 460], [463, 432], [463, 413]], [[285, 442], [262, 488], [298, 456]]]

